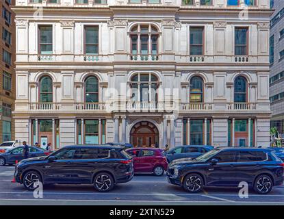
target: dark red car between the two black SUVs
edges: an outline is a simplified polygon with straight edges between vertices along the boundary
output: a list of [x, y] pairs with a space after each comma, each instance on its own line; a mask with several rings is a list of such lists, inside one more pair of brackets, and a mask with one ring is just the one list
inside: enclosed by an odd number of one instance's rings
[[133, 148], [126, 151], [133, 157], [134, 173], [153, 172], [156, 176], [162, 176], [168, 167], [162, 149]]

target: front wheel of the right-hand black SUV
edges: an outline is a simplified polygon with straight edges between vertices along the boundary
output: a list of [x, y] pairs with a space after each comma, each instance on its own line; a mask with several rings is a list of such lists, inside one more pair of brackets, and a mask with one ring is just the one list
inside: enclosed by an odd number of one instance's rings
[[196, 173], [187, 175], [185, 179], [183, 179], [183, 189], [187, 192], [201, 192], [203, 185], [203, 178]]

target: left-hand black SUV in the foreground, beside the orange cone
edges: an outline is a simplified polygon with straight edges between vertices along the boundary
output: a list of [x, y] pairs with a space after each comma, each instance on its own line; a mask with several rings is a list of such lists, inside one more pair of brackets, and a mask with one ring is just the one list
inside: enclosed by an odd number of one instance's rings
[[107, 192], [133, 178], [133, 161], [121, 146], [65, 146], [48, 157], [23, 159], [14, 175], [27, 190], [35, 190], [40, 181], [94, 184], [99, 192]]

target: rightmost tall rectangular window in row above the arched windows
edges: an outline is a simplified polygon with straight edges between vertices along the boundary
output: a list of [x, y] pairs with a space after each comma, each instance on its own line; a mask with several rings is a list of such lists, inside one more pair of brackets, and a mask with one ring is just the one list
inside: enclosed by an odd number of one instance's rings
[[235, 27], [235, 55], [248, 55], [248, 28]]

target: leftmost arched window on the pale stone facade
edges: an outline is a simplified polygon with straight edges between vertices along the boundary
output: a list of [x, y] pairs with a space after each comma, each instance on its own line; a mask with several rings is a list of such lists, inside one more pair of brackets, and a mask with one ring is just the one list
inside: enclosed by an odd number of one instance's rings
[[40, 102], [53, 102], [52, 79], [49, 76], [44, 76], [40, 79]]

